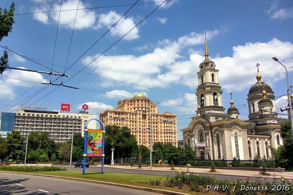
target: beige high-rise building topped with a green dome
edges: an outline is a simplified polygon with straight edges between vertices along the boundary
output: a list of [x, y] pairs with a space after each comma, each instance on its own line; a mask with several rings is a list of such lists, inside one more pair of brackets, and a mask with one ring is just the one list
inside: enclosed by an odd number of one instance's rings
[[149, 147], [149, 117], [151, 113], [151, 141], [170, 142], [177, 146], [176, 114], [158, 113], [157, 105], [144, 94], [118, 101], [118, 107], [100, 112], [104, 125], [126, 126], [137, 139], [137, 144]]

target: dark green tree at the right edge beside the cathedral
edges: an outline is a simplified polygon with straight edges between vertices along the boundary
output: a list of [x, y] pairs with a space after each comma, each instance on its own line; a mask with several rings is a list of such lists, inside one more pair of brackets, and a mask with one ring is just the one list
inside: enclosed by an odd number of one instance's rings
[[281, 137], [283, 138], [283, 145], [280, 145], [276, 152], [275, 157], [278, 160], [278, 165], [287, 170], [293, 169], [293, 150], [292, 150], [292, 132], [290, 122], [281, 125]]

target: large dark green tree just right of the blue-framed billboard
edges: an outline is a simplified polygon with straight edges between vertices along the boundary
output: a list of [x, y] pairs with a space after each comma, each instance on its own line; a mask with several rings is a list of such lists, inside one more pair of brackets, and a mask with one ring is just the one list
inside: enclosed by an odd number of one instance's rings
[[137, 155], [138, 146], [134, 135], [130, 134], [128, 127], [107, 125], [105, 127], [105, 157], [111, 158], [111, 143], [114, 142], [114, 159], [131, 158]]

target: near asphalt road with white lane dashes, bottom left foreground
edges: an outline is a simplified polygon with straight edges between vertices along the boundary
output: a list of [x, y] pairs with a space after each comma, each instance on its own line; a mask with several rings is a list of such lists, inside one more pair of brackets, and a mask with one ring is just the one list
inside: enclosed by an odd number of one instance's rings
[[74, 180], [0, 172], [0, 194], [4, 195], [158, 195], [153, 192]]

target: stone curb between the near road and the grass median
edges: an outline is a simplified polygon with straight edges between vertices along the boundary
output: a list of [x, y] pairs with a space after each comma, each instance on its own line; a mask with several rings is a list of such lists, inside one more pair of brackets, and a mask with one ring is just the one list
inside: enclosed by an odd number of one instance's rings
[[42, 176], [42, 177], [53, 177], [53, 178], [75, 180], [75, 181], [81, 181], [81, 182], [90, 182], [90, 183], [96, 183], [96, 184], [104, 184], [104, 185], [110, 185], [110, 186], [137, 189], [137, 190], [142, 190], [142, 191], [149, 191], [149, 192], [154, 192], [154, 193], [158, 193], [158, 194], [166, 194], [166, 195], [190, 195], [190, 194], [185, 194], [185, 193], [176, 192], [176, 191], [154, 189], [154, 188], [147, 188], [147, 187], [139, 187], [139, 186], [131, 186], [131, 185], [126, 185], [126, 184], [117, 184], [117, 183], [112, 183], [112, 182], [102, 182], [102, 181], [96, 181], [96, 180], [86, 180], [86, 179], [80, 179], [80, 178], [74, 178], [74, 177], [62, 177], [62, 176], [55, 176], [55, 175], [43, 175], [43, 174], [11, 172], [11, 171], [0, 171], [0, 172], [16, 173], [16, 174], [23, 174], [23, 175], [35, 175], [35, 176]]

